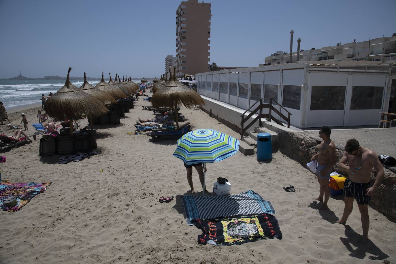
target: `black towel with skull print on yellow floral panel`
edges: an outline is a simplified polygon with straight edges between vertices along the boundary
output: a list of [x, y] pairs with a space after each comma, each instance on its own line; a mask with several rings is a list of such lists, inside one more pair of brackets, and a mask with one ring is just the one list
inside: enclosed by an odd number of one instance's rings
[[232, 218], [193, 219], [191, 223], [202, 230], [198, 244], [228, 246], [258, 239], [282, 239], [278, 221], [273, 215], [238, 215]]

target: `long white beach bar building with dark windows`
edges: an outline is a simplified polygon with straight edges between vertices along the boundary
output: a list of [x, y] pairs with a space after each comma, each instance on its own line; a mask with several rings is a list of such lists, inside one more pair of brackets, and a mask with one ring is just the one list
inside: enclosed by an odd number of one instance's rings
[[[230, 105], [243, 113], [260, 98], [272, 98], [291, 113], [294, 127], [376, 125], [379, 112], [388, 112], [392, 68], [392, 62], [285, 63], [199, 73], [196, 85], [211, 109]], [[287, 116], [278, 104], [274, 107]], [[227, 109], [220, 112], [227, 116]], [[240, 117], [231, 119], [240, 124]]]

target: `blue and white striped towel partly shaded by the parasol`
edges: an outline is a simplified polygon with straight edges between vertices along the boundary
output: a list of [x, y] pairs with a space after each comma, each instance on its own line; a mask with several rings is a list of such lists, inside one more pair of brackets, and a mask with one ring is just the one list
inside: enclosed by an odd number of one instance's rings
[[187, 224], [191, 219], [211, 219], [235, 215], [274, 214], [269, 201], [256, 192], [249, 190], [240, 194], [225, 196], [188, 196], [181, 197]]

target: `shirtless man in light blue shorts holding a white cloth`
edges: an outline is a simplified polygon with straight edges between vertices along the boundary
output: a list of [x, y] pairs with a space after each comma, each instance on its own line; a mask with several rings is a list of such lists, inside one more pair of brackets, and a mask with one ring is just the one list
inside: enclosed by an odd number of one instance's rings
[[[328, 126], [323, 126], [319, 130], [319, 137], [323, 140], [319, 145], [319, 152], [312, 156], [311, 160], [318, 158], [318, 163], [316, 164], [316, 176], [318, 177], [318, 182], [320, 184], [319, 197], [316, 201], [320, 201], [323, 204], [322, 210], [328, 210], [327, 201], [330, 198], [329, 189], [329, 178], [331, 169], [337, 162], [337, 154], [335, 152], [335, 144], [330, 139], [331, 129]], [[324, 195], [324, 201], [323, 201]]]

